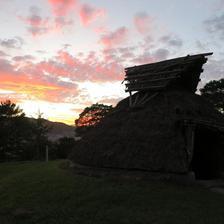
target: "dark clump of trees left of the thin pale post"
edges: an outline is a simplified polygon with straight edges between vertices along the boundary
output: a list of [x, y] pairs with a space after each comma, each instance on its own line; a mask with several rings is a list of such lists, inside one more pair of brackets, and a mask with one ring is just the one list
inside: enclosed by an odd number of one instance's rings
[[47, 128], [10, 100], [0, 104], [0, 161], [41, 159]]

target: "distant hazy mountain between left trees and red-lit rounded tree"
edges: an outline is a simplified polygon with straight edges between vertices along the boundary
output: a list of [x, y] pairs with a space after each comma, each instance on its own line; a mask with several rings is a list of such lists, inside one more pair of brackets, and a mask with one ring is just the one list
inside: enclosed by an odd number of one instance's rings
[[[30, 118], [32, 121], [36, 119]], [[44, 123], [49, 127], [47, 134], [50, 141], [57, 141], [59, 138], [70, 137], [75, 138], [75, 126], [67, 125], [62, 122], [53, 122], [44, 119]]]

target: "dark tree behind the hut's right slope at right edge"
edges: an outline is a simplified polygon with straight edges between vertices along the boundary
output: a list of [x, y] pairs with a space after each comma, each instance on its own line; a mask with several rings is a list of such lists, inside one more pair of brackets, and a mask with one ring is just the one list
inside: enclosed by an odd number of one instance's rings
[[218, 111], [224, 113], [224, 79], [208, 82], [200, 92]]

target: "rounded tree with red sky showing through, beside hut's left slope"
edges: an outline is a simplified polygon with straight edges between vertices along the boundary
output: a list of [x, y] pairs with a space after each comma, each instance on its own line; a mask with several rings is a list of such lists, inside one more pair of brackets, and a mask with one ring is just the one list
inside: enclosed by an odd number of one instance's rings
[[105, 104], [93, 104], [90, 107], [86, 107], [79, 115], [79, 118], [75, 120], [76, 132], [79, 135], [83, 135], [89, 128], [98, 124], [111, 110], [112, 106]]

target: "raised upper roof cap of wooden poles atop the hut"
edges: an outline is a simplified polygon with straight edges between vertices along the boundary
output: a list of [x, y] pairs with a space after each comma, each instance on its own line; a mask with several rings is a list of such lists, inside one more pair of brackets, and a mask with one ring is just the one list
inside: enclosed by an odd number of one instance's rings
[[187, 55], [151, 64], [125, 69], [126, 92], [158, 91], [166, 88], [181, 88], [195, 92], [206, 56], [212, 53]]

